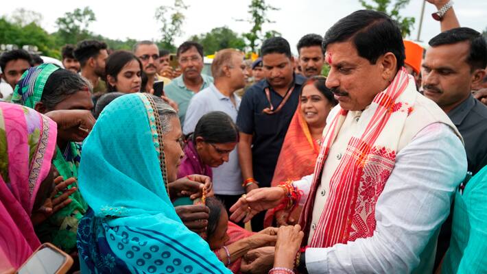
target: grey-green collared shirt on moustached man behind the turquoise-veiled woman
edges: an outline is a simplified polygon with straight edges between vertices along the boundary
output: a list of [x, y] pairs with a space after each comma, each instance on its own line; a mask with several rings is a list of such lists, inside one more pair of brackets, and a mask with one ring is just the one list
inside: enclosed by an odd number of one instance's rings
[[[201, 90], [203, 90], [204, 88], [208, 88], [210, 84], [213, 83], [213, 77], [206, 74], [201, 74], [201, 77], [203, 78], [203, 85], [201, 86]], [[165, 86], [164, 92], [165, 95], [169, 97], [169, 99], [172, 99], [176, 101], [176, 103], [178, 103], [179, 121], [182, 125], [185, 121], [185, 115], [188, 108], [189, 100], [191, 100], [191, 97], [195, 95], [195, 92], [186, 87], [185, 82], [182, 80], [182, 75], [174, 78], [171, 81], [171, 84]]]

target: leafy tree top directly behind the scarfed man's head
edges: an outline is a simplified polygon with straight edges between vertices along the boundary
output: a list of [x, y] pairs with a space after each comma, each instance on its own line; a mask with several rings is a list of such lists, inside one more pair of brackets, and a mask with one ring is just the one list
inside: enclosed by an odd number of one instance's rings
[[[377, 10], [379, 12], [385, 12], [389, 14], [397, 23], [399, 23], [399, 27], [401, 28], [401, 34], [403, 37], [408, 36], [411, 34], [412, 29], [414, 28], [414, 17], [403, 17], [399, 15], [399, 10], [404, 8], [410, 0], [370, 0], [375, 5], [369, 4], [368, 0], [359, 0], [361, 5], [366, 8], [367, 10]], [[392, 7], [390, 7], [392, 5]]]

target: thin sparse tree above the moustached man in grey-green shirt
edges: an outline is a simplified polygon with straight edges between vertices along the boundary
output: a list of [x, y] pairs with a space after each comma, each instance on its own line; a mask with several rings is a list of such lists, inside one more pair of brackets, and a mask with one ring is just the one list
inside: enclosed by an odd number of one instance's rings
[[174, 51], [174, 38], [183, 34], [182, 24], [185, 23], [183, 12], [189, 8], [182, 0], [174, 0], [174, 5], [161, 5], [156, 10], [155, 18], [161, 23], [161, 42], [158, 45], [169, 51]]

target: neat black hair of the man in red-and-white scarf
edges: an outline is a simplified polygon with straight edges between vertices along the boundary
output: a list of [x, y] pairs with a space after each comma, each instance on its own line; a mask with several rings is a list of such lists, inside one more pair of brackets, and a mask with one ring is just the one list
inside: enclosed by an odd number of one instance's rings
[[383, 12], [357, 10], [345, 16], [324, 34], [322, 47], [326, 51], [328, 45], [348, 40], [353, 43], [359, 56], [370, 64], [375, 64], [381, 55], [391, 52], [396, 56], [398, 71], [404, 66], [401, 29], [396, 21]]

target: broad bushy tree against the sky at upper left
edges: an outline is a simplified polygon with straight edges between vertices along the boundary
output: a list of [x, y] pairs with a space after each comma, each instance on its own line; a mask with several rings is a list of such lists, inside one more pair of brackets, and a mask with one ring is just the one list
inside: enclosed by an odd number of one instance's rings
[[60, 44], [76, 44], [92, 36], [88, 26], [96, 21], [95, 12], [91, 8], [76, 8], [73, 12], [66, 12], [64, 16], [56, 20], [58, 32], [56, 35]]

